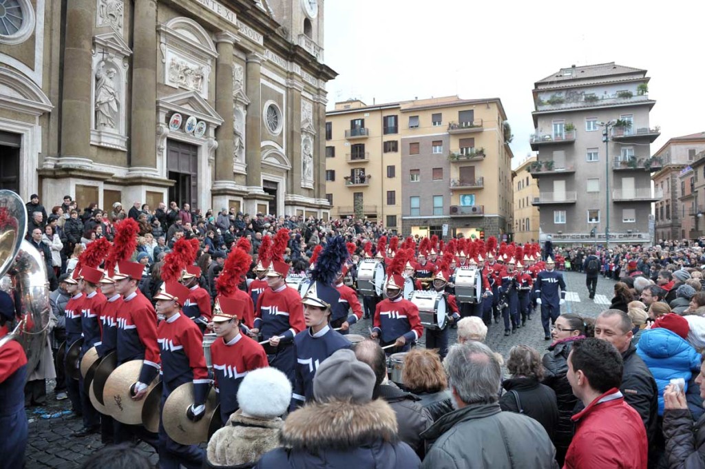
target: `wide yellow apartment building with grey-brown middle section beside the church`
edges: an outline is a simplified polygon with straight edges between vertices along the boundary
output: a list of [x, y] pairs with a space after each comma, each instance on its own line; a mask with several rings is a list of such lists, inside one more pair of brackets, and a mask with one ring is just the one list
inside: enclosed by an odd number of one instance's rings
[[331, 215], [403, 235], [510, 237], [510, 133], [497, 98], [336, 103], [326, 114]]

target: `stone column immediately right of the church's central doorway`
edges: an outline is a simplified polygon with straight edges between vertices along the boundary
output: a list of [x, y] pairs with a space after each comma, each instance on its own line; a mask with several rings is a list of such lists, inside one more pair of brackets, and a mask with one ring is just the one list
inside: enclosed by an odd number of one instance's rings
[[231, 32], [216, 35], [216, 112], [223, 118], [221, 126], [216, 128], [216, 182], [233, 181], [233, 44], [236, 40]]

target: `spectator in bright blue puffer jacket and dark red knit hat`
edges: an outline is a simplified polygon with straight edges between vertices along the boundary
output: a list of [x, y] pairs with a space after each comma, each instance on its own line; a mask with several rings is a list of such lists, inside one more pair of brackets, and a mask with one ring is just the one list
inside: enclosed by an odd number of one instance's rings
[[701, 399], [689, 398], [689, 394], [699, 395], [700, 392], [692, 379], [699, 373], [702, 358], [687, 342], [688, 331], [688, 322], [684, 317], [669, 313], [656, 319], [654, 326], [644, 331], [637, 345], [637, 354], [656, 379], [660, 416], [663, 416], [663, 390], [674, 378], [685, 380], [688, 408], [694, 420], [703, 414], [702, 406], [698, 405]]

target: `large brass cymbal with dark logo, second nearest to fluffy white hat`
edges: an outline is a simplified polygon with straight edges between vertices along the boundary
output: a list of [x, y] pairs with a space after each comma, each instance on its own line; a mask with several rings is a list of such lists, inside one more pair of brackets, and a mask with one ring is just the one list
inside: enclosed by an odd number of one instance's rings
[[[118, 422], [125, 425], [140, 425], [142, 423], [142, 406], [145, 399], [135, 401], [130, 394], [130, 387], [137, 382], [142, 370], [142, 360], [131, 360], [118, 366], [108, 377], [103, 388], [103, 403]], [[156, 386], [157, 379], [149, 384], [147, 394]]]

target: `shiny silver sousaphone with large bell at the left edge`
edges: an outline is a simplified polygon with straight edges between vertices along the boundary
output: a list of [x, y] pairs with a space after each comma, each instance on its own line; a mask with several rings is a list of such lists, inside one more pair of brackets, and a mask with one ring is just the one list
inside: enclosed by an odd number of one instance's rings
[[[49, 282], [47, 264], [25, 240], [27, 207], [11, 190], [0, 190], [0, 290], [15, 303], [16, 321], [10, 334], [0, 337], [0, 347], [16, 340], [27, 355], [27, 370], [34, 370], [47, 346]], [[29, 373], [27, 373], [29, 376]]]

